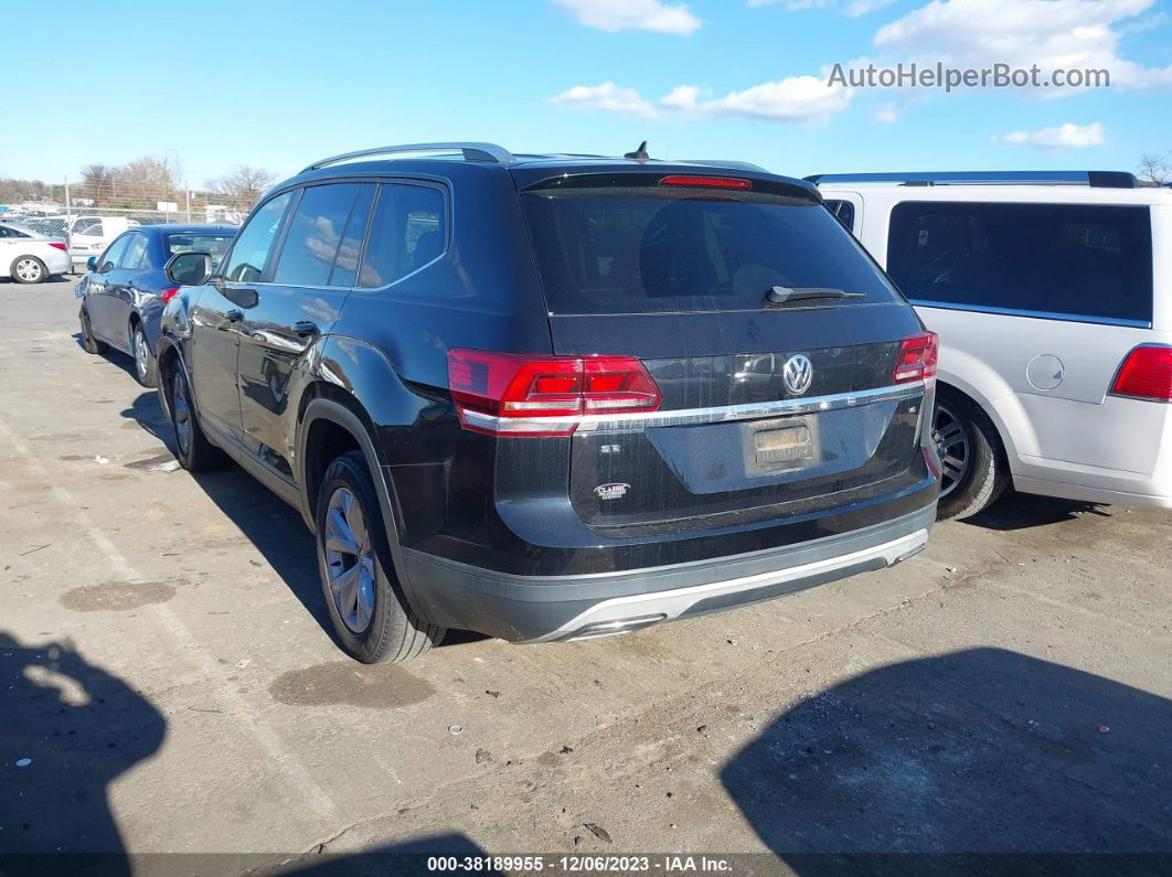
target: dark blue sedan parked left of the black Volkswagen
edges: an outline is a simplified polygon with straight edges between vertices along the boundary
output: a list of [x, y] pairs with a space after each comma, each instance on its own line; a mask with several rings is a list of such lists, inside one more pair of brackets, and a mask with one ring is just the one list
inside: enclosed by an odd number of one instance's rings
[[218, 265], [234, 235], [230, 225], [138, 226], [120, 234], [102, 255], [90, 256], [77, 283], [86, 350], [104, 354], [113, 347], [130, 354], [138, 383], [155, 386], [158, 320], [178, 292], [163, 267], [189, 251], [211, 253]]

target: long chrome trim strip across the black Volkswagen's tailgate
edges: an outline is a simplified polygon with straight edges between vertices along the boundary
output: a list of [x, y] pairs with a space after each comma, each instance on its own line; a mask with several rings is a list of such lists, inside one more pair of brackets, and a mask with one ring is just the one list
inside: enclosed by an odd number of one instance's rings
[[752, 402], [745, 405], [720, 405], [714, 407], [679, 409], [675, 411], [633, 412], [615, 414], [580, 414], [572, 417], [493, 417], [478, 411], [464, 411], [465, 422], [476, 427], [498, 433], [548, 432], [577, 427], [578, 432], [618, 432], [642, 430], [650, 426], [683, 426], [687, 424], [728, 423], [730, 420], [756, 420], [785, 414], [808, 414], [818, 411], [870, 405], [875, 402], [909, 399], [922, 396], [924, 381], [911, 381], [893, 386], [877, 386], [871, 390], [815, 396], [809, 399], [777, 399]]

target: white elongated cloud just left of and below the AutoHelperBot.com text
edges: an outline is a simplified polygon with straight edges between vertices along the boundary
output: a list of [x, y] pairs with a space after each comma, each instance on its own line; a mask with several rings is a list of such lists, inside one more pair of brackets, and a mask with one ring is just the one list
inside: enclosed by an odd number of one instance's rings
[[679, 85], [660, 103], [691, 115], [825, 122], [845, 110], [850, 101], [850, 89], [827, 87], [826, 81], [817, 76], [788, 76], [716, 100], [702, 98], [695, 85]]

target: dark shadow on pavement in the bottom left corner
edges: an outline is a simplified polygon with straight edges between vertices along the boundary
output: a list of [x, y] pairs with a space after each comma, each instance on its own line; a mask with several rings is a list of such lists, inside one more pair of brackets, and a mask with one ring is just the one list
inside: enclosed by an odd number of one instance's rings
[[127, 871], [107, 790], [165, 732], [145, 698], [69, 644], [0, 632], [0, 873], [62, 852], [105, 854], [102, 873]]

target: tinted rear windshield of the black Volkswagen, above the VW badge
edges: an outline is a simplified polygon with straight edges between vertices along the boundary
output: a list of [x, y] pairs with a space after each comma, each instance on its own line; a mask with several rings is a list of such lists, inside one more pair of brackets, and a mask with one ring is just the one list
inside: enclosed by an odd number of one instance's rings
[[899, 297], [812, 201], [600, 187], [531, 191], [522, 203], [553, 314], [759, 310], [775, 286], [865, 296], [838, 307]]

